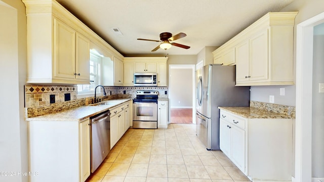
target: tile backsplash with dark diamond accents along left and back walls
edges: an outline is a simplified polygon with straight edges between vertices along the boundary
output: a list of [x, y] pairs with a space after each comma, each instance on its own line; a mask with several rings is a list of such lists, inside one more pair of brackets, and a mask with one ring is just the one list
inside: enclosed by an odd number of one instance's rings
[[[158, 91], [159, 98], [168, 98], [168, 87], [111, 87], [104, 86], [107, 96], [103, 100], [115, 98], [135, 98], [137, 90]], [[70, 101], [64, 101], [64, 94], [70, 94]], [[55, 95], [55, 103], [50, 103], [50, 95]], [[91, 97], [77, 98], [76, 85], [25, 85], [26, 117], [59, 112], [87, 105]], [[100, 97], [99, 97], [100, 98]]]

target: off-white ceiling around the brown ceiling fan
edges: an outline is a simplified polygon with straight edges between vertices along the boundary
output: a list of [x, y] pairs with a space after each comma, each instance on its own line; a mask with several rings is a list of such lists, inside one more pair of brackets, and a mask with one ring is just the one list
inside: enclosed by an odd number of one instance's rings
[[[57, 0], [124, 56], [191, 55], [205, 46], [220, 46], [268, 12], [294, 0]], [[112, 28], [118, 28], [117, 35]], [[151, 52], [161, 32], [186, 37]]]

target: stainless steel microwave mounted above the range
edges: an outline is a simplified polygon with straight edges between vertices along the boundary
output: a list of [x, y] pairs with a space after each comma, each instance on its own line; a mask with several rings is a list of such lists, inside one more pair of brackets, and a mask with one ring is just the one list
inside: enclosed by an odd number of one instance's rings
[[134, 73], [134, 86], [157, 86], [156, 73]]

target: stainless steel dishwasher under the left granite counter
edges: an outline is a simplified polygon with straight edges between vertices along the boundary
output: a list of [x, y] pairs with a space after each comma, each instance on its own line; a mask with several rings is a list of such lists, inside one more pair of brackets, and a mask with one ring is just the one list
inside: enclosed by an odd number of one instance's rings
[[110, 112], [105, 111], [91, 119], [91, 172], [93, 173], [110, 151]]

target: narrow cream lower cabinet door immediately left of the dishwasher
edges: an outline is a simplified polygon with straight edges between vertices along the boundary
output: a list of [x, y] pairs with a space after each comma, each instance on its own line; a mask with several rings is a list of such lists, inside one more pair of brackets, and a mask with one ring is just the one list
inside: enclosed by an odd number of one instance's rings
[[79, 124], [80, 181], [90, 175], [90, 120]]

